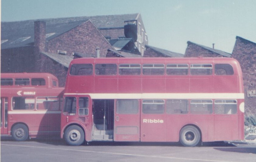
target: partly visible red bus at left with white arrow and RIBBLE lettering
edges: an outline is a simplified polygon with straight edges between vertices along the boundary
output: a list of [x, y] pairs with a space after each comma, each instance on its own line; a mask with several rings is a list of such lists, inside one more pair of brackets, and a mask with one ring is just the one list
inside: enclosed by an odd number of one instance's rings
[[2, 73], [1, 136], [59, 137], [63, 92], [52, 74]]

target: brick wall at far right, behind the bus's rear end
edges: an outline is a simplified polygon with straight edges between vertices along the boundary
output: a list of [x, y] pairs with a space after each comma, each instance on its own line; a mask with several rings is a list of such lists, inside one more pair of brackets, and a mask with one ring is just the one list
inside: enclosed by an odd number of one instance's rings
[[246, 112], [256, 114], [256, 43], [236, 37], [232, 57], [242, 68]]

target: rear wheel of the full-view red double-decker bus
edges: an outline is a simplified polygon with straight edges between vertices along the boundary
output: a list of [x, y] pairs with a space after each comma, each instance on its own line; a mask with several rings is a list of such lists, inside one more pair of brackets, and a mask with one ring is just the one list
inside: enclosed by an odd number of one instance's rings
[[194, 126], [185, 126], [180, 131], [180, 142], [183, 146], [194, 147], [201, 140], [199, 130]]

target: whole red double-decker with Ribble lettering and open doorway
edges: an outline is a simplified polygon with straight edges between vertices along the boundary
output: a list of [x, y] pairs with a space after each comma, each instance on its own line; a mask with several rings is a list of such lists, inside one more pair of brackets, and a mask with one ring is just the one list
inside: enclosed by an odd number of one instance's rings
[[64, 97], [69, 145], [244, 139], [242, 71], [232, 58], [79, 58]]

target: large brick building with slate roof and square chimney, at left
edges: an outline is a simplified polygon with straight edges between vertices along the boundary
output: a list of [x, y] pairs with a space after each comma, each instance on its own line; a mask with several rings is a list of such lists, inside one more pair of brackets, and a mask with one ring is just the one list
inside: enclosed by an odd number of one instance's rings
[[1, 32], [1, 72], [50, 72], [60, 86], [75, 54], [96, 57], [98, 49], [100, 57], [108, 50], [141, 56], [148, 44], [140, 14], [1, 22]]

